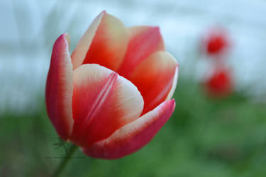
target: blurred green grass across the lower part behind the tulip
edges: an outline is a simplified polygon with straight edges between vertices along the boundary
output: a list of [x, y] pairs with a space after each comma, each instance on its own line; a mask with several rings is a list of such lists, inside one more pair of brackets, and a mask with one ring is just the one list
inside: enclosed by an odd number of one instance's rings
[[[265, 104], [241, 93], [223, 99], [179, 79], [172, 118], [140, 151], [122, 159], [92, 159], [77, 151], [62, 176], [264, 177]], [[64, 156], [45, 112], [6, 113], [0, 118], [0, 176], [50, 176]]]

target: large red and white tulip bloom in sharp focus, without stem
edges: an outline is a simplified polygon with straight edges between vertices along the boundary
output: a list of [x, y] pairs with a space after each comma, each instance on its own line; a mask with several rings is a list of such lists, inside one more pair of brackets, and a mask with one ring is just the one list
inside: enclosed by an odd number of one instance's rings
[[158, 27], [125, 28], [103, 11], [69, 52], [69, 36], [52, 49], [45, 90], [57, 134], [88, 156], [118, 159], [157, 134], [173, 113], [178, 64]]

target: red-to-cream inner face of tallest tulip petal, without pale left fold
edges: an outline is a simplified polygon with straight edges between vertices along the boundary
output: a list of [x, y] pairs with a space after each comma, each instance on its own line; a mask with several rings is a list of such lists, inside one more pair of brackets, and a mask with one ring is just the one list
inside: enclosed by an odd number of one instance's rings
[[99, 64], [116, 72], [123, 62], [127, 46], [125, 25], [115, 16], [105, 13], [83, 64]]

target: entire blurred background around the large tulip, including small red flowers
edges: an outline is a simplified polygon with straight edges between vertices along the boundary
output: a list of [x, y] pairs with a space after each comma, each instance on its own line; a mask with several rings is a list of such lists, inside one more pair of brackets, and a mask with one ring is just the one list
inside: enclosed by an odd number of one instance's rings
[[[45, 111], [52, 45], [103, 10], [160, 26], [179, 62], [172, 118], [115, 161], [81, 152], [62, 176], [266, 176], [266, 1], [0, 1], [0, 176], [50, 176], [64, 154]], [[67, 144], [66, 144], [67, 146]]]

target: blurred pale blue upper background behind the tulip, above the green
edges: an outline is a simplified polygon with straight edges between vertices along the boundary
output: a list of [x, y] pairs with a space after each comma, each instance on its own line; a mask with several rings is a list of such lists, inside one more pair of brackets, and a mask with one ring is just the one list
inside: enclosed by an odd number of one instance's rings
[[[189, 76], [199, 39], [214, 25], [232, 40], [227, 64], [238, 91], [266, 101], [266, 1], [0, 1], [0, 115], [5, 110], [31, 113], [43, 98], [52, 45], [70, 33], [72, 49], [102, 10], [126, 26], [158, 25], [167, 50], [177, 58], [180, 75]], [[194, 78], [208, 63], [200, 60]], [[178, 89], [178, 88], [177, 88]], [[248, 90], [247, 90], [248, 89]], [[38, 99], [37, 99], [38, 98]]]

